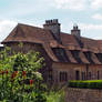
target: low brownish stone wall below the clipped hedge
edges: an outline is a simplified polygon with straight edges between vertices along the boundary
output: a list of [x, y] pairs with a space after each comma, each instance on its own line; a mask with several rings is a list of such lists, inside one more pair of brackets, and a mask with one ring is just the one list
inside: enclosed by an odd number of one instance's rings
[[65, 102], [102, 102], [102, 90], [68, 88]]

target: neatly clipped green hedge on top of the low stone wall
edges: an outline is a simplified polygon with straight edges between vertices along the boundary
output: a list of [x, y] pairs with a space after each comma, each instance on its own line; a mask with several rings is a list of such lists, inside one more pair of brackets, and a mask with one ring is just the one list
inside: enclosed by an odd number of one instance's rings
[[102, 80], [69, 81], [69, 88], [102, 89]]

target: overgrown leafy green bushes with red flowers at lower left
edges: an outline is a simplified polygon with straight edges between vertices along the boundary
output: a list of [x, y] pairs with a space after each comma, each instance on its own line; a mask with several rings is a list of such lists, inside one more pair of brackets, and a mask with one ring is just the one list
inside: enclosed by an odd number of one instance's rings
[[39, 69], [43, 58], [39, 52], [0, 52], [0, 102], [64, 102], [64, 91], [49, 91]]

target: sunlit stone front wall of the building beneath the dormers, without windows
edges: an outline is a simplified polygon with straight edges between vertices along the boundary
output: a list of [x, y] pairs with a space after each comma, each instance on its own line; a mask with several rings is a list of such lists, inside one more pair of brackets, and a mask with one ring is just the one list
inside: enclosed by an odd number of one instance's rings
[[[80, 79], [82, 80], [82, 72], [85, 73], [85, 79], [84, 80], [98, 80], [98, 71], [99, 71], [99, 80], [102, 80], [102, 65], [98, 64], [90, 64], [89, 69], [86, 70], [86, 64], [73, 64], [73, 63], [59, 63], [59, 62], [53, 62], [52, 63], [52, 69], [53, 69], [53, 82], [54, 83], [63, 83], [60, 82], [60, 72], [67, 72], [67, 83], [69, 80], [76, 80], [75, 72], [80, 72]], [[89, 78], [89, 72], [91, 72], [91, 79]]]

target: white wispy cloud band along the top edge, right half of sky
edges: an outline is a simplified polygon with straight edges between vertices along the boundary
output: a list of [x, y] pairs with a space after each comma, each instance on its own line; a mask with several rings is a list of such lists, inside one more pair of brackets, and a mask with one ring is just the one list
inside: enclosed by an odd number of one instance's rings
[[99, 10], [102, 8], [102, 0], [53, 0], [53, 3], [58, 9], [74, 11], [88, 10], [89, 8], [91, 10]]

